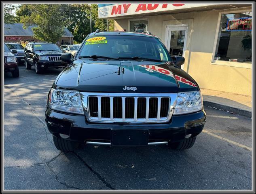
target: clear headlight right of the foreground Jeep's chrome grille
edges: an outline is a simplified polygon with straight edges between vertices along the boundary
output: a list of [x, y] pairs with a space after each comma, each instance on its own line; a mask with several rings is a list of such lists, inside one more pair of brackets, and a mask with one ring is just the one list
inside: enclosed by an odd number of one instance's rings
[[203, 97], [200, 91], [178, 93], [173, 114], [187, 114], [203, 109]]

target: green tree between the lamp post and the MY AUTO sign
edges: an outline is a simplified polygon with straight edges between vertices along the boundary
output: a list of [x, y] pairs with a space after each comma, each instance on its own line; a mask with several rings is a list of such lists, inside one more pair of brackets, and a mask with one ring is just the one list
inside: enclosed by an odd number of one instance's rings
[[[91, 4], [91, 18], [93, 21], [93, 31], [96, 29], [102, 30], [102, 31], [114, 31], [114, 20], [108, 20], [108, 26], [107, 26], [107, 20], [106, 19], [99, 19], [98, 17], [98, 5], [97, 4]], [[90, 10], [87, 10], [87, 15], [90, 18]]]

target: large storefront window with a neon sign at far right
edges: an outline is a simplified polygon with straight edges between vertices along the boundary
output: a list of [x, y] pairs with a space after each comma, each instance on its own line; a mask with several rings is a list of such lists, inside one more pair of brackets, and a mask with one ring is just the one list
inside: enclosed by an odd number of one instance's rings
[[221, 15], [214, 60], [252, 63], [252, 12]]

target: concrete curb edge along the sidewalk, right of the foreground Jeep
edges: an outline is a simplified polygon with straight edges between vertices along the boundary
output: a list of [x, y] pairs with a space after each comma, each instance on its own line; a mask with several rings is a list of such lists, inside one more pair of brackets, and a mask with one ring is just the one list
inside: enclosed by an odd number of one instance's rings
[[235, 114], [239, 114], [239, 115], [242, 115], [242, 116], [252, 118], [252, 112], [250, 112], [248, 110], [241, 110], [240, 108], [234, 108], [234, 107], [231, 107], [231, 106], [218, 104], [218, 103], [214, 103], [214, 102], [210, 102], [210, 101], [203, 101], [203, 105], [216, 107], [216, 108], [219, 108], [219, 109], [222, 109], [222, 110], [225, 110], [225, 111], [234, 112]]

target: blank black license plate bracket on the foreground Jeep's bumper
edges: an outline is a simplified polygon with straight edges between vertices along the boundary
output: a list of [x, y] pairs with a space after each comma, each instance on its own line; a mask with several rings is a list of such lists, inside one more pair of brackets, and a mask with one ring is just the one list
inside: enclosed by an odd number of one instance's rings
[[147, 146], [147, 129], [112, 129], [111, 146]]

